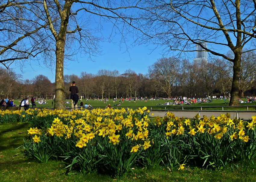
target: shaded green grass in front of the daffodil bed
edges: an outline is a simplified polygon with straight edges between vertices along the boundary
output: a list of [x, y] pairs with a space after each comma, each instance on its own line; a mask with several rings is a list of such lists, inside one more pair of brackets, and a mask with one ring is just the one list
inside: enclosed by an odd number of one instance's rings
[[23, 154], [23, 137], [27, 136], [30, 128], [28, 123], [0, 124], [0, 181], [44, 181], [44, 182], [169, 182], [169, 181], [256, 181], [256, 160], [242, 162], [239, 168], [231, 171], [229, 167], [223, 170], [210, 170], [186, 166], [185, 170], [169, 170], [166, 166], [155, 169], [146, 169], [134, 166], [133, 173], [126, 177], [114, 179], [102, 174], [80, 174], [77, 171], [66, 174], [66, 164], [59, 160], [50, 160], [48, 163], [38, 163], [35, 159]]

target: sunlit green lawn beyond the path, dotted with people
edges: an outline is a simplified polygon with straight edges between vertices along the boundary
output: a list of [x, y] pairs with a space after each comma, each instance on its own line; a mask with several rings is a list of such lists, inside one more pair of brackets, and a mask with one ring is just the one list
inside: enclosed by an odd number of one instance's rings
[[[244, 99], [245, 100], [245, 99]], [[66, 101], [70, 101], [70, 100], [66, 100]], [[138, 107], [144, 107], [146, 106], [148, 109], [180, 109], [182, 110], [182, 107], [184, 110], [201, 110], [201, 106], [204, 107], [204, 106], [207, 106], [207, 108], [204, 108], [203, 110], [222, 110], [222, 106], [226, 106], [226, 107], [223, 107], [223, 110], [247, 110], [247, 107], [229, 107], [228, 106], [228, 103], [226, 103], [225, 101], [223, 100], [220, 100], [220, 99], [217, 99], [217, 100], [213, 100], [211, 103], [201, 103], [201, 104], [198, 104], [198, 103], [195, 103], [193, 105], [186, 105], [186, 104], [183, 104], [183, 105], [163, 105], [165, 102], [169, 101], [169, 102], [173, 102], [173, 100], [148, 100], [147, 102], [145, 102], [144, 100], [140, 101], [140, 100], [136, 100], [136, 102], [134, 101], [126, 101], [124, 100], [124, 103], [122, 103], [121, 101], [121, 105], [120, 106], [114, 106], [114, 104], [118, 104], [119, 103], [119, 100], [115, 101], [115, 103], [113, 103], [113, 100], [108, 100], [107, 103], [104, 103], [104, 100], [102, 101], [98, 101], [98, 100], [82, 100], [83, 101], [83, 105], [85, 103], [87, 103], [88, 105], [90, 104], [91, 106], [93, 107], [102, 107], [102, 108], [105, 108], [106, 105], [110, 104], [111, 107], [114, 107], [114, 108], [121, 108], [121, 107], [124, 107], [124, 108], [138, 108]], [[228, 101], [228, 100], [227, 100]], [[19, 100], [15, 100], [14, 103], [19, 104]], [[80, 101], [78, 102], [78, 105], [80, 105]], [[252, 102], [252, 103], [240, 103], [240, 106], [254, 106], [254, 107], [248, 107], [248, 110], [255, 110], [255, 105], [256, 105], [256, 102]], [[38, 102], [36, 102], [36, 106], [37, 107], [50, 107], [50, 108], [53, 108], [52, 107], [52, 100], [47, 100], [47, 103], [46, 104], [38, 104]], [[71, 102], [70, 104], [65, 104], [65, 106], [67, 107], [71, 107]], [[214, 107], [212, 107], [214, 106]], [[219, 106], [219, 107], [216, 107], [216, 106]], [[30, 107], [32, 107], [32, 105], [30, 105]]]

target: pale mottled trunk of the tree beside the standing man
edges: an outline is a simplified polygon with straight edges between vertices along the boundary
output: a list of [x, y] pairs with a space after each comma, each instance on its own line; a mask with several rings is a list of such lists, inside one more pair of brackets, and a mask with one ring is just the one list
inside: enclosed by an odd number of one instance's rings
[[54, 109], [65, 110], [65, 94], [64, 94], [64, 50], [65, 39], [61, 37], [56, 42], [56, 73], [55, 73], [55, 106]]

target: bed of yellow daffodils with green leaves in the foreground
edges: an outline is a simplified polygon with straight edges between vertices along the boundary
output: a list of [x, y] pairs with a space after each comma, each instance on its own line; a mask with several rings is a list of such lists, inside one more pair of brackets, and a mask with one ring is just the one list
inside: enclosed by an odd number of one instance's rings
[[196, 115], [192, 120], [172, 113], [151, 119], [148, 113], [144, 107], [0, 114], [1, 121], [9, 117], [31, 123], [22, 146], [28, 155], [40, 162], [61, 158], [68, 171], [100, 171], [118, 177], [136, 165], [184, 169], [191, 164], [204, 168], [230, 164], [233, 168], [256, 156], [256, 116], [244, 122], [230, 119], [228, 113], [202, 119]]

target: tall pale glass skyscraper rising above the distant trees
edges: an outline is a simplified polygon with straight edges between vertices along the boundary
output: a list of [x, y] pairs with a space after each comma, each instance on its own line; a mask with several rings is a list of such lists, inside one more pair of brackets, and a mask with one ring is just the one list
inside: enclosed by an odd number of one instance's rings
[[[207, 42], [201, 42], [201, 44], [207, 48]], [[204, 68], [204, 64], [207, 63], [208, 53], [200, 45], [196, 45], [196, 58], [194, 58], [193, 64], [196, 69]]]

